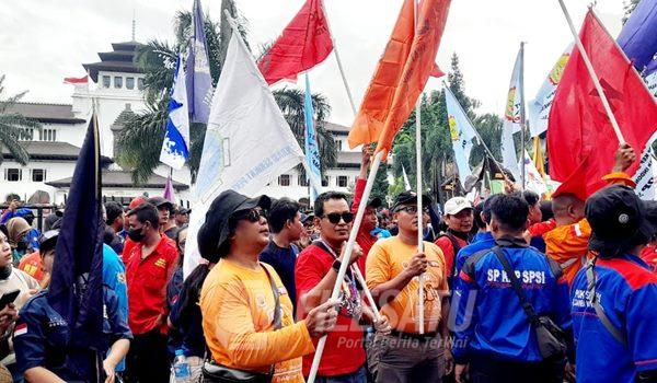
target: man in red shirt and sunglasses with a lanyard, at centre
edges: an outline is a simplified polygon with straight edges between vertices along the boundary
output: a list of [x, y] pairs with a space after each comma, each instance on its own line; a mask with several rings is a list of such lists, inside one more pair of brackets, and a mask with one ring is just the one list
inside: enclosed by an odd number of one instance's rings
[[[354, 213], [342, 193], [327, 192], [318, 196], [314, 204], [314, 222], [320, 239], [299, 254], [295, 279], [297, 281], [298, 317], [325, 302], [333, 291], [337, 270], [343, 262], [353, 265], [362, 255], [358, 244], [348, 260], [344, 258]], [[361, 287], [348, 270], [342, 282], [336, 329], [328, 334], [316, 382], [366, 382], [364, 330], [359, 322], [373, 323], [373, 313], [364, 304]], [[374, 326], [388, 329], [388, 322]], [[303, 374], [310, 373], [314, 353], [303, 357]]]

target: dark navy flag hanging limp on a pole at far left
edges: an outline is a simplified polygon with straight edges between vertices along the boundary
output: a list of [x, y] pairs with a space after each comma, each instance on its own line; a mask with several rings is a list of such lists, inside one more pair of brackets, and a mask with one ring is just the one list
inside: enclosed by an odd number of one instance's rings
[[72, 344], [91, 350], [102, 350], [104, 343], [102, 219], [94, 114], [76, 163], [48, 288], [48, 303], [67, 321]]

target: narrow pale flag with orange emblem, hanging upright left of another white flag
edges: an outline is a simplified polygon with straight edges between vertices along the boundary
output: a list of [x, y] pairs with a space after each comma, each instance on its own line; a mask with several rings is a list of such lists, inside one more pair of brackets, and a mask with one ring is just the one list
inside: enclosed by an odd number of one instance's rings
[[521, 81], [522, 73], [522, 55], [523, 48], [520, 47], [514, 73], [511, 74], [511, 83], [507, 95], [507, 105], [504, 113], [504, 123], [502, 125], [502, 164], [508, 169], [516, 181], [520, 179], [520, 169], [518, 167], [518, 156], [516, 155], [516, 143], [514, 142], [514, 134], [522, 128], [522, 109], [525, 108], [525, 100], [522, 100], [523, 89]]

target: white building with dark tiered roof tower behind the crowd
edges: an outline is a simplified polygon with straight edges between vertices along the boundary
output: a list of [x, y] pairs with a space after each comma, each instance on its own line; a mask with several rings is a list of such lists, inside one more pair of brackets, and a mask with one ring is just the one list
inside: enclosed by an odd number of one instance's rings
[[[130, 172], [120, 169], [113, 160], [116, 156], [116, 134], [124, 128], [123, 117], [125, 114], [146, 108], [143, 74], [134, 63], [135, 49], [138, 46], [139, 43], [136, 42], [112, 44], [112, 51], [99, 54], [99, 62], [83, 65], [94, 83], [65, 85], [73, 88], [71, 104], [19, 103], [13, 111], [9, 111], [41, 121], [43, 130], [41, 134], [34, 131], [32, 140], [24, 141], [31, 154], [27, 165], [20, 165], [7, 150], [3, 151], [4, 161], [0, 164], [0, 174], [3, 177], [3, 186], [0, 189], [2, 200], [12, 193], [27, 200], [36, 190], [43, 190], [50, 196], [51, 202], [66, 201], [93, 102], [96, 105], [100, 126], [105, 198], [127, 202], [145, 192], [150, 196], [162, 195], [169, 167], [158, 167], [148, 182], [135, 186]], [[324, 125], [326, 130], [334, 135], [338, 147], [336, 166], [328, 169], [324, 174], [324, 190], [353, 193], [359, 171], [360, 149], [348, 149], [348, 127], [331, 123]], [[191, 183], [188, 169], [175, 171], [173, 179], [176, 199], [187, 204]], [[275, 183], [267, 185], [263, 194], [275, 198], [286, 196], [307, 202], [308, 182], [297, 170], [290, 170]]]

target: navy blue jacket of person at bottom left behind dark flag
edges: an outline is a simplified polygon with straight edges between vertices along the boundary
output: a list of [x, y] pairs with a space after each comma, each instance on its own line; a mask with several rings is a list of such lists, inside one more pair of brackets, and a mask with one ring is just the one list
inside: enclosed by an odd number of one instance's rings
[[[13, 341], [18, 372], [24, 374], [28, 369], [43, 367], [67, 382], [89, 380], [95, 371], [91, 363], [92, 351], [69, 345], [74, 334], [69, 332], [66, 320], [48, 304], [47, 298], [47, 290], [43, 290], [21, 309]], [[104, 358], [114, 341], [131, 339], [132, 334], [118, 310], [116, 294], [105, 288], [103, 298], [103, 335], [106, 349], [101, 352]]]

